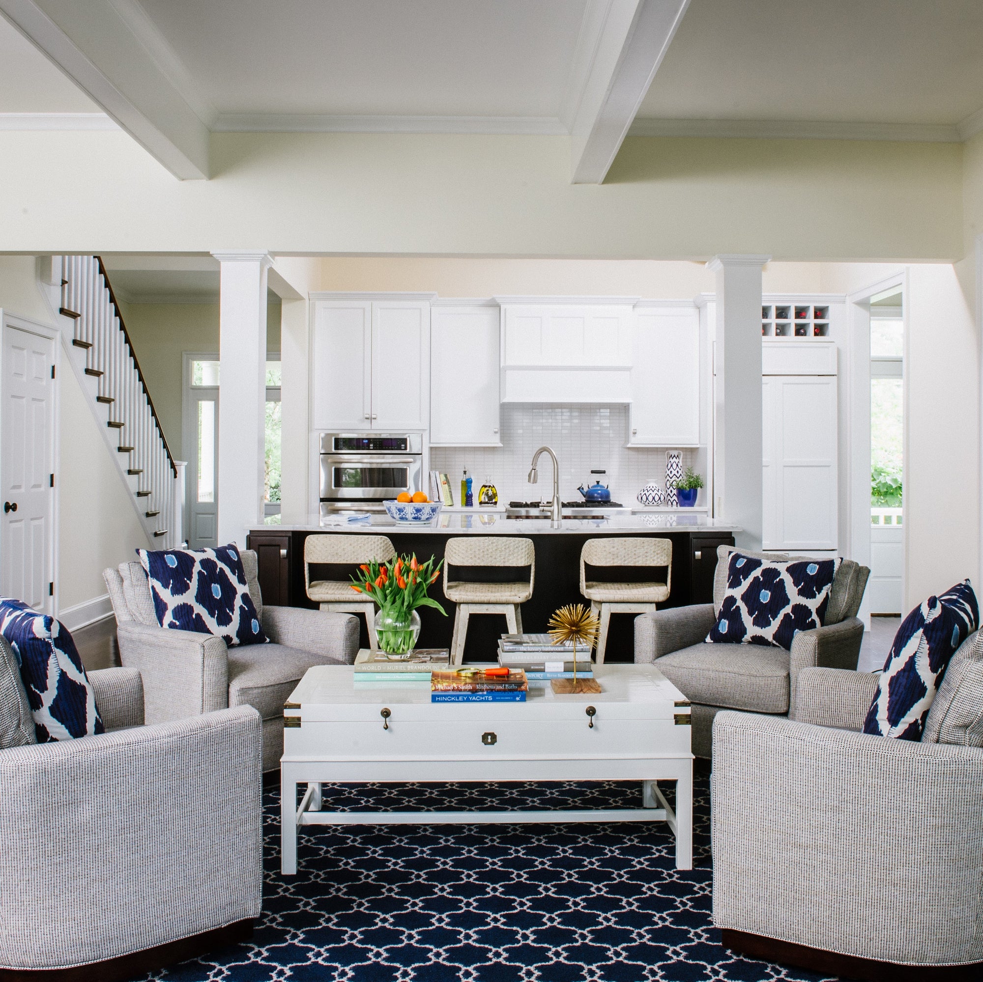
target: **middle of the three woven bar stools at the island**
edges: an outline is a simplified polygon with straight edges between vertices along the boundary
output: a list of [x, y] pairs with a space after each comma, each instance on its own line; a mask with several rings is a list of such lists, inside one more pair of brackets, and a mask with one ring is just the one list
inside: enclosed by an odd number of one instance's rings
[[[529, 582], [467, 582], [452, 578], [452, 566], [528, 566]], [[464, 658], [464, 639], [472, 614], [504, 614], [509, 631], [522, 632], [519, 604], [533, 595], [535, 578], [536, 552], [532, 539], [506, 539], [497, 535], [447, 539], [443, 552], [443, 595], [457, 605], [450, 645], [450, 657], [455, 665], [460, 665]]]

